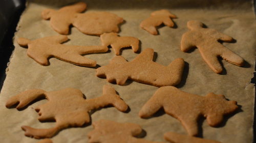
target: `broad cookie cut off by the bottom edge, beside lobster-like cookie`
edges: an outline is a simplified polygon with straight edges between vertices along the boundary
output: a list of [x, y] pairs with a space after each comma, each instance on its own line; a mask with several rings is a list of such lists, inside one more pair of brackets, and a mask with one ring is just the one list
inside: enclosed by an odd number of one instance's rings
[[93, 127], [94, 130], [88, 134], [89, 143], [157, 143], [157, 141], [134, 137], [140, 135], [142, 132], [142, 128], [134, 123], [117, 123], [109, 120], [99, 120], [93, 122]]

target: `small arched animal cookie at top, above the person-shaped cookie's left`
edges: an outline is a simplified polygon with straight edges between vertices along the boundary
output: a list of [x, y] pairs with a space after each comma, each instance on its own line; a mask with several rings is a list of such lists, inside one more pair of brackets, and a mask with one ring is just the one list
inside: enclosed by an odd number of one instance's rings
[[171, 18], [177, 18], [174, 14], [170, 13], [168, 10], [158, 10], [151, 13], [151, 16], [143, 20], [140, 23], [140, 27], [146, 30], [147, 32], [157, 35], [156, 27], [162, 23], [166, 26], [173, 27], [174, 22]]

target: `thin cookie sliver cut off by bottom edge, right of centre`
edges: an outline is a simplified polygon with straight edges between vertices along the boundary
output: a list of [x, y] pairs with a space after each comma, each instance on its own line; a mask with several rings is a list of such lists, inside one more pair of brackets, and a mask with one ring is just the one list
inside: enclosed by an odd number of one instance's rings
[[216, 140], [203, 139], [174, 132], [167, 132], [164, 134], [164, 139], [173, 143], [221, 143]]

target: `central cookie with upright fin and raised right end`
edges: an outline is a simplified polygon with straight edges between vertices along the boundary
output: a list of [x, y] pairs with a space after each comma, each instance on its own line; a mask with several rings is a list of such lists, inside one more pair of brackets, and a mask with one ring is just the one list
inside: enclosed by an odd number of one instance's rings
[[133, 61], [127, 62], [122, 56], [115, 56], [109, 65], [96, 69], [98, 77], [108, 82], [123, 85], [127, 79], [162, 87], [177, 85], [181, 81], [184, 60], [176, 59], [168, 66], [153, 62], [153, 49], [143, 50]]

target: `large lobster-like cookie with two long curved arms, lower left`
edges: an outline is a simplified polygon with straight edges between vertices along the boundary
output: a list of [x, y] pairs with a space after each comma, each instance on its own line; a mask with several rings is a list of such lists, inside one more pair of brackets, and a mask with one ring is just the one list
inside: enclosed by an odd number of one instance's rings
[[63, 89], [60, 91], [46, 92], [44, 90], [28, 90], [6, 102], [6, 107], [16, 106], [17, 109], [27, 106], [35, 99], [46, 97], [49, 102], [35, 108], [39, 121], [56, 121], [53, 128], [35, 129], [22, 126], [26, 136], [34, 138], [49, 138], [57, 132], [68, 127], [81, 127], [90, 122], [89, 111], [100, 107], [113, 105], [120, 111], [126, 111], [126, 103], [116, 94], [110, 85], [104, 85], [103, 94], [93, 99], [84, 99], [78, 89]]

